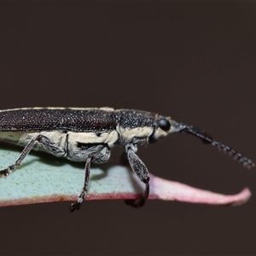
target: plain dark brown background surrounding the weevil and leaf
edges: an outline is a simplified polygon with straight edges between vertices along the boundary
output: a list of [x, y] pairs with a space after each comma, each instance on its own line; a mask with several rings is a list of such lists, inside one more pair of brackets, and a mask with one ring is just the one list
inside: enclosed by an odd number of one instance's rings
[[[256, 3], [0, 3], [0, 108], [154, 111], [256, 160], [255, 13]], [[139, 155], [160, 177], [226, 194], [248, 186], [253, 197], [241, 207], [148, 201], [139, 210], [87, 201], [73, 214], [69, 202], [5, 207], [0, 253], [256, 253], [255, 169], [181, 134]]]

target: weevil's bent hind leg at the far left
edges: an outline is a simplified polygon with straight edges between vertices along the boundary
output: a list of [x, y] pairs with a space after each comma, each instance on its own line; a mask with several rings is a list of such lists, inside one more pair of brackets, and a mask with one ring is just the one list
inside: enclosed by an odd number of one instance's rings
[[44, 137], [42, 134], [38, 134], [38, 136], [32, 138], [32, 140], [26, 144], [26, 147], [22, 150], [19, 158], [15, 161], [15, 163], [11, 166], [8, 166], [6, 169], [0, 171], [0, 177], [6, 177], [9, 173], [14, 172], [15, 169], [20, 166], [22, 161], [25, 159], [26, 155], [32, 150], [34, 144], [38, 142], [43, 145], [44, 148], [49, 150], [52, 154], [61, 155], [61, 148], [59, 148], [54, 142], [52, 142], [48, 137]]

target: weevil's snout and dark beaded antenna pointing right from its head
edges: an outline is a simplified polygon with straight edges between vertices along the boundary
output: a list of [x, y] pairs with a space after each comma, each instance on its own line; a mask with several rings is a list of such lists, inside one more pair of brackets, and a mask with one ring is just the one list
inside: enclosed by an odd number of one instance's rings
[[207, 132], [197, 129], [193, 126], [183, 125], [183, 124], [174, 124], [175, 128], [179, 132], [186, 132], [196, 137], [200, 137], [203, 143], [212, 144], [212, 146], [217, 147], [220, 151], [224, 152], [224, 154], [229, 154], [233, 160], [236, 160], [242, 166], [250, 169], [255, 166], [253, 161], [248, 159], [243, 154], [239, 153], [236, 149], [230, 148], [229, 146], [224, 145], [223, 143], [218, 143], [212, 139], [212, 137], [207, 134]]

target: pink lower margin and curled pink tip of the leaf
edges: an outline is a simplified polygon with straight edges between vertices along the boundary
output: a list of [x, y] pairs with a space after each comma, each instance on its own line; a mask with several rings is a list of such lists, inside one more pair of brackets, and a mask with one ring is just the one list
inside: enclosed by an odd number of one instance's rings
[[[117, 177], [117, 182], [120, 177]], [[135, 199], [142, 195], [143, 186], [139, 185], [141, 191], [135, 189], [134, 192], [112, 191], [111, 193], [97, 193], [92, 192], [86, 196], [88, 200], [126, 200]], [[32, 196], [29, 198], [22, 198], [19, 200], [0, 201], [0, 207], [25, 205], [32, 203], [43, 203], [53, 201], [75, 201], [78, 195], [42, 195]], [[211, 205], [227, 205], [227, 206], [238, 206], [249, 200], [251, 192], [245, 188], [236, 195], [222, 195], [213, 193], [204, 189], [196, 189], [189, 185], [169, 181], [160, 177], [156, 177], [150, 174], [150, 194], [148, 199], [150, 200], [164, 200], [164, 201], [183, 201], [189, 203], [200, 203], [200, 204], [211, 204]]]

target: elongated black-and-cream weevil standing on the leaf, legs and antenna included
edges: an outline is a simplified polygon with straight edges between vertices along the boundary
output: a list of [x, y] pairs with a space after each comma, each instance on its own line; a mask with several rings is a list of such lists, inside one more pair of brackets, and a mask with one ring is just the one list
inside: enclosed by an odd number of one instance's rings
[[145, 184], [141, 197], [126, 202], [133, 207], [141, 207], [148, 198], [149, 176], [147, 167], [137, 156], [137, 144], [153, 143], [172, 132], [192, 134], [230, 154], [242, 166], [254, 166], [252, 160], [234, 148], [214, 141], [207, 132], [158, 113], [113, 108], [15, 108], [0, 110], [0, 140], [15, 143], [24, 149], [14, 164], [0, 171], [0, 177], [14, 172], [32, 149], [68, 160], [83, 161], [84, 187], [77, 201], [70, 206], [73, 212], [86, 198], [91, 163], [107, 162], [111, 149], [121, 145], [125, 147], [132, 171]]

